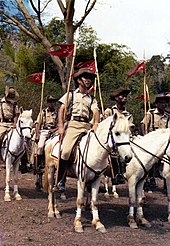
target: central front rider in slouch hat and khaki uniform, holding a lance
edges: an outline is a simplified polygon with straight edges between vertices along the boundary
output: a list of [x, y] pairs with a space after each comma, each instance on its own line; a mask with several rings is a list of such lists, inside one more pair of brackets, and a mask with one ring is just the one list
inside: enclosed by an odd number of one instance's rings
[[[74, 144], [82, 133], [92, 129], [96, 131], [100, 113], [96, 99], [88, 93], [88, 89], [94, 84], [96, 75], [88, 68], [80, 68], [73, 75], [76, 90], [65, 94], [59, 102], [61, 107], [58, 112], [58, 133], [62, 140], [62, 152], [58, 172], [58, 190], [65, 191], [66, 170], [68, 160]], [[68, 101], [67, 101], [68, 96]], [[64, 129], [65, 113], [70, 108], [70, 121], [67, 129]], [[93, 117], [93, 124], [90, 121]]]

